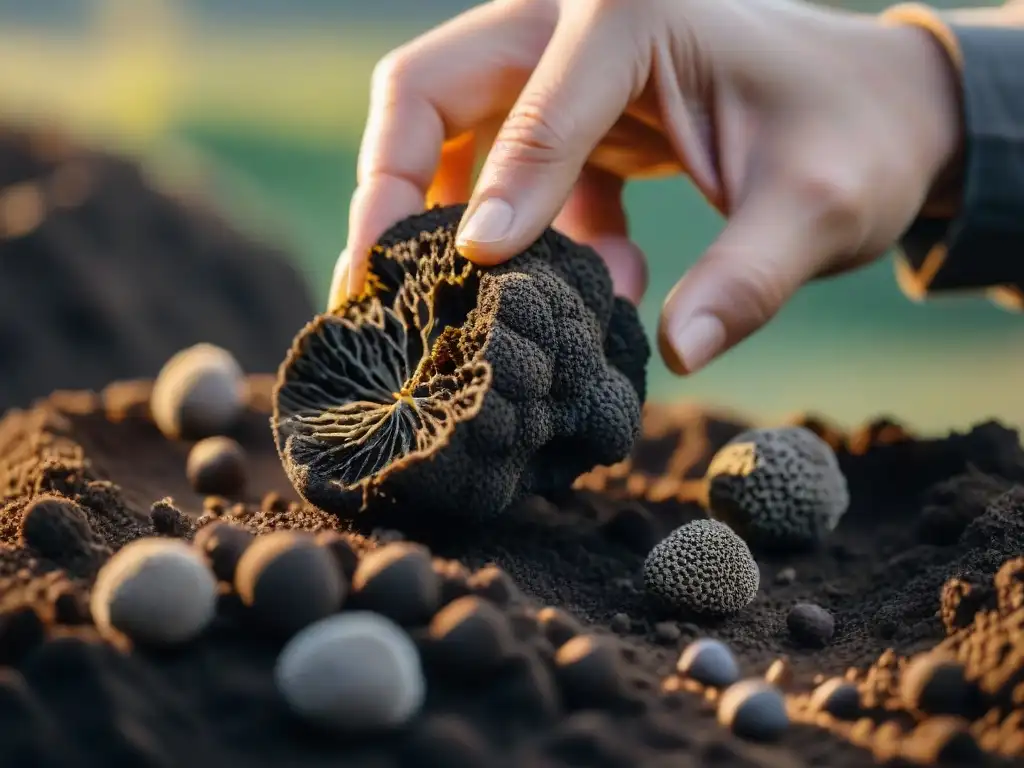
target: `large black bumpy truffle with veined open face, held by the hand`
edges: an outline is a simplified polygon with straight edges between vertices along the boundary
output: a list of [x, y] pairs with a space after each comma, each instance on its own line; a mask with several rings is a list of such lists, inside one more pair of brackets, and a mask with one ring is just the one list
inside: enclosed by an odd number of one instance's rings
[[463, 210], [386, 232], [364, 294], [308, 324], [281, 367], [278, 451], [322, 509], [492, 517], [639, 435], [650, 349], [600, 257], [548, 229], [478, 267], [455, 249]]

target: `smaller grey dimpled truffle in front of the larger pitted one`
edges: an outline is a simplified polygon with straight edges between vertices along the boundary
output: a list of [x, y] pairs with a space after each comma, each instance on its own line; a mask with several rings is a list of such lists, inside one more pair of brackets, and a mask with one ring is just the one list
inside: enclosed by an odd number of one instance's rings
[[758, 564], [746, 543], [718, 520], [676, 528], [647, 555], [644, 586], [668, 606], [693, 613], [734, 613], [758, 594]]

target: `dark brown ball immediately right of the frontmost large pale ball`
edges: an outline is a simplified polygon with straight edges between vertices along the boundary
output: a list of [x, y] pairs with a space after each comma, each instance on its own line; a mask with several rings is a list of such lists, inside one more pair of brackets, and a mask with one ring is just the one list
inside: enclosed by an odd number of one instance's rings
[[506, 615], [472, 596], [441, 608], [430, 622], [429, 635], [436, 657], [445, 667], [467, 674], [496, 668], [514, 644]]

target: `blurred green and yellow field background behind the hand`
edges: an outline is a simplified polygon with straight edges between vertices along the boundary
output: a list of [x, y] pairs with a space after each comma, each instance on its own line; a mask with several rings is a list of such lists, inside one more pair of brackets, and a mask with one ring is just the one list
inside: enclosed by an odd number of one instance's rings
[[[140, 158], [162, 183], [201, 185], [241, 228], [293, 253], [323, 304], [374, 62], [473, 4], [0, 0], [0, 115], [56, 120]], [[628, 205], [651, 261], [642, 313], [652, 333], [665, 294], [721, 221], [678, 179], [633, 185]], [[984, 299], [910, 302], [887, 259], [808, 288], [692, 379], [654, 360], [651, 391], [767, 418], [810, 410], [845, 424], [891, 414], [929, 431], [988, 417], [1020, 425], [1022, 341], [1024, 317]]]

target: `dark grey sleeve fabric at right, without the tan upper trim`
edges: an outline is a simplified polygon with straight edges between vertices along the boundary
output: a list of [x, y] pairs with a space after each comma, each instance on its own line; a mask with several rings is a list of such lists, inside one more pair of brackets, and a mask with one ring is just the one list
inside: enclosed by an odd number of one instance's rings
[[963, 53], [966, 155], [952, 221], [919, 219], [900, 242], [929, 292], [1024, 286], [1024, 29], [950, 27]]

